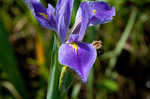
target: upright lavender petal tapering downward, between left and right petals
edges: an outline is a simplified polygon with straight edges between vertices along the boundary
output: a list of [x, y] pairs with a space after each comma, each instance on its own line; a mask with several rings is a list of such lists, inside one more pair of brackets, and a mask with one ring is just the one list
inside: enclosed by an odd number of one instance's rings
[[61, 42], [66, 40], [74, 0], [59, 0], [56, 6], [57, 32]]

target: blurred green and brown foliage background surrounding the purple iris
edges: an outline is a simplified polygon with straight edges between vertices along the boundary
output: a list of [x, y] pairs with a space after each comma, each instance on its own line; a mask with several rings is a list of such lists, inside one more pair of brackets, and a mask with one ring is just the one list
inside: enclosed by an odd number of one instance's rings
[[[74, 2], [70, 26], [82, 1]], [[88, 28], [84, 41], [101, 40], [103, 47], [88, 82], [74, 74], [66, 99], [150, 99], [150, 0], [102, 1], [116, 16]], [[0, 0], [0, 99], [46, 98], [53, 35], [23, 1]]]

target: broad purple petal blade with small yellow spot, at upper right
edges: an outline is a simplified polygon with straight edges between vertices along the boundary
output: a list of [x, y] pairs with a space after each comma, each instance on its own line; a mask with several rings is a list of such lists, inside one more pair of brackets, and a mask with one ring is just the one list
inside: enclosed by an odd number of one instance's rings
[[107, 23], [115, 16], [115, 8], [103, 1], [86, 2], [90, 9], [90, 26]]

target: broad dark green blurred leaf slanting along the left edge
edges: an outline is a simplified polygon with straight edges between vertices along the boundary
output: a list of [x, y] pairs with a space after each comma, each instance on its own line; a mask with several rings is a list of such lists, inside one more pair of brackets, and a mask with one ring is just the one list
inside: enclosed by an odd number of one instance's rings
[[8, 40], [8, 33], [5, 31], [0, 21], [0, 64], [6, 73], [7, 79], [14, 85], [16, 90], [24, 99], [28, 99], [27, 92], [21, 78], [17, 61]]

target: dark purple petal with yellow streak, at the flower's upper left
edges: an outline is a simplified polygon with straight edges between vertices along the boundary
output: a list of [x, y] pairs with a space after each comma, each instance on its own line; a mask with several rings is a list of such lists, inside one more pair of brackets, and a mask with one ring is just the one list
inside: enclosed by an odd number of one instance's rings
[[37, 21], [43, 27], [56, 30], [55, 9], [50, 4], [46, 9], [40, 0], [27, 0], [26, 3], [29, 5]]

